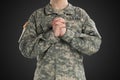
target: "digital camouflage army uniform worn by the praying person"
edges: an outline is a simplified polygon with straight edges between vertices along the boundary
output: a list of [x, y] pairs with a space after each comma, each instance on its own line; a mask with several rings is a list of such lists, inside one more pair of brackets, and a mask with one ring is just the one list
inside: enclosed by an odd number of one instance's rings
[[[67, 31], [55, 37], [51, 21], [66, 20]], [[34, 80], [86, 80], [83, 56], [96, 53], [101, 44], [95, 23], [85, 10], [69, 4], [60, 12], [48, 4], [33, 12], [19, 39], [19, 49], [27, 58], [37, 58]]]

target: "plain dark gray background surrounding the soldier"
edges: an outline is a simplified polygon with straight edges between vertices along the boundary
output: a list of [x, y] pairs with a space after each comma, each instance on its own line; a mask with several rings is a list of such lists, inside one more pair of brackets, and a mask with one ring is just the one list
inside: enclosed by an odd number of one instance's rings
[[[69, 0], [87, 11], [96, 22], [102, 36], [98, 53], [84, 55], [87, 80], [116, 80], [119, 63], [119, 9], [118, 3], [109, 0]], [[1, 78], [2, 80], [32, 80], [36, 60], [24, 58], [18, 49], [22, 25], [36, 9], [49, 0], [4, 0], [1, 2]]]

